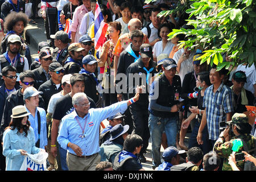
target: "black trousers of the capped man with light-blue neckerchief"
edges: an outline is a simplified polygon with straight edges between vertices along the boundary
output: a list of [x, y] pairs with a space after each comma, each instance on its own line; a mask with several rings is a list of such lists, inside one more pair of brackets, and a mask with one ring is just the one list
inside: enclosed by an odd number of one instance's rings
[[136, 104], [130, 105], [131, 118], [133, 119], [133, 133], [141, 136], [143, 147], [140, 154], [146, 153], [150, 130], [148, 128], [148, 110]]

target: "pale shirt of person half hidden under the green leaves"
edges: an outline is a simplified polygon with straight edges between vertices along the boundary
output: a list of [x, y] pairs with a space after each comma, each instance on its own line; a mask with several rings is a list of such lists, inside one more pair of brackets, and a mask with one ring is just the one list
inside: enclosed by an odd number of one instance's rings
[[[176, 64], [180, 59], [180, 56], [182, 55], [182, 53], [184, 52], [184, 48], [179, 49], [179, 51], [177, 51], [174, 54], [174, 57], [172, 57], [172, 59], [175, 60]], [[184, 60], [181, 65], [180, 65], [180, 72], [179, 72], [179, 76], [180, 76], [180, 80], [181, 80], [181, 85], [183, 82], [183, 79], [185, 77], [185, 75], [187, 73], [190, 73], [193, 71], [194, 67], [193, 67], [193, 55], [194, 53], [191, 52], [189, 55], [189, 58], [187, 60]]]

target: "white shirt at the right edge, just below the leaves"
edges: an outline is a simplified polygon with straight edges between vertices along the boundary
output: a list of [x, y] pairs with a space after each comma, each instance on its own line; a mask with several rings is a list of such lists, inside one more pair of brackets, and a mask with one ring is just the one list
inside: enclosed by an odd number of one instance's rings
[[251, 93], [254, 94], [255, 90], [254, 90], [253, 85], [256, 84], [256, 71], [255, 71], [254, 64], [251, 65], [251, 67], [247, 66], [247, 68], [246, 68], [246, 65], [240, 64], [240, 65], [238, 65], [238, 67], [236, 69], [236, 72], [237, 71], [245, 72], [246, 83], [243, 86], [243, 88], [245, 88], [246, 90], [249, 90]]

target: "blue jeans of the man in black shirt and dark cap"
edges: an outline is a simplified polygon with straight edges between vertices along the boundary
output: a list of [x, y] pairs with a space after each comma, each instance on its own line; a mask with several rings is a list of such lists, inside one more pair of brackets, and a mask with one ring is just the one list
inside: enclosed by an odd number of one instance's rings
[[150, 114], [150, 117], [148, 118], [148, 127], [150, 129], [150, 136], [152, 140], [153, 166], [158, 167], [161, 164], [160, 147], [163, 131], [166, 133], [168, 147], [176, 146], [178, 119], [179, 118], [177, 116], [161, 118]]

